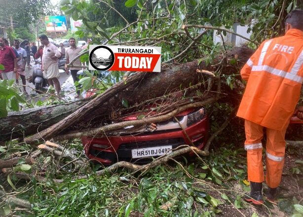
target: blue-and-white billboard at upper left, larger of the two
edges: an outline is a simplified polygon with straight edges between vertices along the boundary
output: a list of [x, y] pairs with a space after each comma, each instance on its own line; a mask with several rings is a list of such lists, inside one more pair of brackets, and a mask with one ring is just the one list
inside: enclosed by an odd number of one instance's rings
[[45, 16], [46, 32], [67, 32], [65, 16]]

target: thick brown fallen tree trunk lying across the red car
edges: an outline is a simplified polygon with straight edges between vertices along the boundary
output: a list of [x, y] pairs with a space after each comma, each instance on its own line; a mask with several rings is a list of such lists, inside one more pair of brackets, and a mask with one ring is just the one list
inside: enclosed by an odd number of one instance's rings
[[[100, 127], [98, 122], [102, 117], [130, 113], [143, 104], [155, 102], [157, 98], [162, 101], [165, 98], [173, 99], [169, 101], [170, 107], [162, 109], [166, 113], [193, 102], [182, 101], [185, 95], [193, 97], [194, 102], [202, 102], [218, 94], [213, 72], [216, 72], [217, 78], [221, 72], [233, 73], [246, 62], [251, 53], [251, 49], [241, 47], [218, 56], [211, 65], [206, 65], [203, 61], [198, 65], [197, 60], [184, 64], [166, 64], [162, 67], [162, 72], [138, 72], [130, 75], [92, 100], [12, 112], [8, 117], [0, 119], [0, 130], [3, 132], [0, 141], [23, 139], [36, 133], [26, 138], [25, 142], [38, 144], [39, 141], [49, 140], [57, 135], [87, 131]], [[231, 59], [236, 59], [236, 64], [229, 64]], [[220, 92], [230, 92], [227, 85], [223, 88], [225, 89]], [[196, 91], [201, 93], [199, 97], [196, 96]], [[236, 91], [233, 94], [237, 94]], [[130, 108], [123, 108], [122, 100], [127, 101]]]

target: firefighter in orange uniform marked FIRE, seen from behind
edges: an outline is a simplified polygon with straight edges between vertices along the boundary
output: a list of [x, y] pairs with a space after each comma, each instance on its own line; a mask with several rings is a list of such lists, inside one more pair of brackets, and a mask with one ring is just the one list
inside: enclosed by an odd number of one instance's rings
[[[303, 82], [303, 10], [286, 16], [285, 35], [265, 40], [241, 70], [247, 86], [237, 116], [245, 119], [250, 197], [264, 204], [265, 196], [274, 200], [284, 165], [285, 132], [300, 99]], [[297, 112], [298, 111], [298, 112]], [[296, 109], [301, 117], [303, 107]], [[263, 130], [266, 129], [266, 175], [262, 164]]]

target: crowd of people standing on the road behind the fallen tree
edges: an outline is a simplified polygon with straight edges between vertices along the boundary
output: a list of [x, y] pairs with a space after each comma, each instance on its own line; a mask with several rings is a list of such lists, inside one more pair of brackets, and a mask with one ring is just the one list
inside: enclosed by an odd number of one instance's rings
[[[69, 64], [82, 49], [87, 48], [87, 46], [82, 46], [83, 48], [76, 46], [76, 39], [71, 37], [69, 39], [70, 48], [66, 49], [63, 43], [60, 43], [60, 50], [56, 45], [48, 40], [46, 35], [39, 36], [41, 45], [39, 47], [33, 42], [25, 43], [24, 49], [20, 47], [20, 41], [18, 39], [14, 40], [13, 46], [8, 45], [8, 41], [0, 37], [0, 64], [4, 66], [4, 70], [0, 71], [1, 79], [15, 79], [16, 83], [19, 83], [19, 78], [22, 80], [23, 92], [27, 94], [26, 91], [26, 77], [25, 68], [31, 67], [31, 56], [34, 59], [41, 59], [43, 76], [47, 79], [49, 85], [54, 86], [57, 95], [60, 97], [60, 82], [59, 82], [59, 67], [58, 60], [61, 58], [66, 58], [66, 63]], [[91, 39], [87, 40], [88, 43]], [[32, 45], [32, 46], [31, 46]], [[74, 62], [74, 65], [81, 66], [79, 59]], [[71, 72], [74, 83], [78, 80], [77, 72], [82, 70], [81, 67], [72, 67], [71, 69], [66, 67], [66, 73]], [[75, 98], [79, 97], [80, 90], [76, 91]]]

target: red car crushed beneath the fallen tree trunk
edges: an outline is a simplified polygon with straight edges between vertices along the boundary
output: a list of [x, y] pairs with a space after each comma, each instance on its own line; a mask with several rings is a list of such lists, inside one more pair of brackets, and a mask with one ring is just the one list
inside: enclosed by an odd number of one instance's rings
[[[208, 117], [204, 108], [188, 109], [176, 118], [153, 123], [144, 129], [134, 130], [134, 126], [125, 127], [125, 132], [118, 135], [107, 135], [105, 138], [81, 138], [84, 152], [89, 159], [104, 165], [111, 165], [118, 161], [146, 162], [151, 157], [169, 153], [179, 145], [190, 145], [203, 148], [208, 136]], [[136, 120], [137, 116], [127, 116], [122, 121]]]

